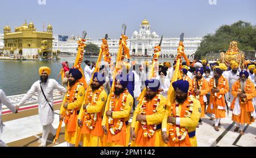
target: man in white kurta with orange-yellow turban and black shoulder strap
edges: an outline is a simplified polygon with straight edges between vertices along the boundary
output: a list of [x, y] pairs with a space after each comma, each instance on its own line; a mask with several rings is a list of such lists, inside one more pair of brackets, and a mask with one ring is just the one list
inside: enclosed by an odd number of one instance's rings
[[48, 79], [50, 74], [51, 69], [49, 69], [49, 67], [40, 67], [40, 80], [36, 81], [31, 86], [30, 90], [28, 90], [27, 94], [23, 96], [22, 100], [20, 100], [18, 104], [18, 106], [23, 105], [32, 97], [32, 95], [34, 95], [35, 92], [38, 92], [38, 112], [41, 125], [43, 126], [41, 146], [46, 146], [46, 140], [49, 132], [51, 132], [52, 135], [56, 134], [56, 131], [52, 126], [54, 119], [53, 89], [59, 90], [60, 93], [67, 92], [67, 89], [57, 83], [55, 79]]

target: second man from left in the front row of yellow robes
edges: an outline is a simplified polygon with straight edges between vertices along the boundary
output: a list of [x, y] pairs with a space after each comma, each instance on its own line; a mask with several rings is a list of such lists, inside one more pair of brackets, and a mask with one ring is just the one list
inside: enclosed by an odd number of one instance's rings
[[[106, 100], [107, 100], [107, 93], [102, 86], [105, 83], [104, 75], [100, 72], [95, 72], [93, 74], [92, 83], [90, 84], [90, 87], [92, 88], [92, 93], [89, 93], [88, 98], [92, 97], [93, 101], [90, 101], [84, 103], [82, 108], [84, 110], [80, 110], [78, 119], [78, 124], [80, 127], [85, 126], [86, 133], [82, 133], [81, 141], [82, 146], [84, 147], [102, 147], [102, 135], [103, 130], [100, 126], [102, 123], [102, 110], [105, 108]], [[90, 89], [89, 89], [90, 91]], [[82, 113], [86, 112], [88, 115], [86, 116], [87, 120], [82, 121]], [[97, 118], [95, 119], [94, 116], [97, 115]], [[90, 118], [90, 119], [89, 119]], [[93, 120], [93, 122], [88, 121]], [[85, 123], [84, 123], [85, 122]], [[93, 126], [95, 124], [96, 126]]]

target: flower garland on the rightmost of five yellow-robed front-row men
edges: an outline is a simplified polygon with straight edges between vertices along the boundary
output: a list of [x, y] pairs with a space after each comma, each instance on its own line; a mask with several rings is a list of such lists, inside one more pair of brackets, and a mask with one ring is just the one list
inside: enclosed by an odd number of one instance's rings
[[[191, 114], [193, 112], [193, 96], [192, 94], [189, 92], [189, 99], [188, 99], [188, 104], [187, 104], [187, 108], [185, 109], [185, 114], [184, 117], [190, 118]], [[180, 117], [179, 115], [179, 103], [175, 100], [175, 112], [176, 112], [176, 116], [174, 116], [173, 113], [173, 108], [174, 106], [171, 106], [171, 114], [170, 116], [172, 117]], [[184, 140], [188, 134], [188, 129], [187, 127], [180, 127], [180, 125], [174, 125], [172, 123], [168, 123], [169, 125], [169, 134], [171, 136], [172, 141], [174, 142], [179, 142], [180, 140]], [[174, 134], [174, 130], [176, 131], [176, 136]]]

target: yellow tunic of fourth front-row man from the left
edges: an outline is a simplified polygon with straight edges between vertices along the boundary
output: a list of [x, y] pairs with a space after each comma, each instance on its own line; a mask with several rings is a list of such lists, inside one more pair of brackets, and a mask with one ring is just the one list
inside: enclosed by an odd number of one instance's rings
[[[151, 100], [152, 101], [152, 100]], [[147, 106], [150, 105], [151, 101], [149, 103], [147, 103]], [[133, 121], [131, 122], [131, 127], [135, 128], [135, 132], [138, 131], [139, 129], [142, 129], [142, 125], [140, 122], [136, 121], [137, 115], [140, 113], [140, 105], [137, 106], [134, 115], [133, 115]], [[165, 114], [165, 106], [166, 106], [166, 98], [164, 96], [160, 96], [160, 103], [158, 108], [156, 109], [156, 113], [154, 114], [150, 114], [146, 116], [146, 122], [147, 125], [159, 125], [162, 123], [163, 121], [163, 117]], [[143, 134], [142, 135], [138, 135], [138, 132], [136, 133], [136, 139], [145, 139], [143, 138]], [[131, 147], [136, 147], [139, 146], [139, 144], [136, 143], [136, 139], [134, 140], [133, 143], [131, 143]], [[149, 140], [152, 138], [148, 138]], [[155, 131], [155, 142], [153, 142], [155, 147], [161, 147], [164, 146], [164, 142], [162, 139], [162, 134], [161, 134], [161, 129], [158, 129]], [[151, 142], [152, 143], [152, 142]], [[146, 145], [146, 144], [144, 144]]]

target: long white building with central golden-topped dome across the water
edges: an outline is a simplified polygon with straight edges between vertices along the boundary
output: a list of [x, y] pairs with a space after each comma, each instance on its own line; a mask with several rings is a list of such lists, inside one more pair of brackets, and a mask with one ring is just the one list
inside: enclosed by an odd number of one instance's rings
[[[130, 54], [134, 55], [152, 55], [154, 53], [154, 47], [159, 44], [160, 36], [156, 32], [151, 32], [151, 25], [145, 18], [139, 25], [139, 32], [134, 31], [133, 35], [127, 40], [127, 45], [130, 48]], [[77, 40], [79, 37], [71, 37], [68, 41], [59, 41], [58, 36], [54, 35], [53, 38], [53, 50], [60, 50], [60, 52], [67, 52], [75, 55], [77, 53]], [[185, 37], [184, 47], [185, 54], [188, 58], [193, 58], [193, 54], [196, 52], [200, 45], [201, 37]], [[175, 57], [177, 54], [177, 46], [179, 46], [179, 37], [164, 37], [161, 45], [162, 52], [160, 54], [165, 57]], [[86, 39], [86, 42], [92, 42], [97, 46], [101, 46], [101, 40]], [[109, 52], [111, 54], [118, 52], [119, 39], [108, 39]]]

